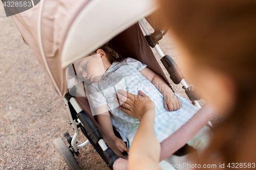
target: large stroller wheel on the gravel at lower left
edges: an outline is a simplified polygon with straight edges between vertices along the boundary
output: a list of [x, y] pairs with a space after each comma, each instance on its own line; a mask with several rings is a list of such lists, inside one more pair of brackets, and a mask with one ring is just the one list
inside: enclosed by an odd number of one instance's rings
[[57, 139], [55, 139], [53, 141], [53, 143], [54, 143], [55, 147], [57, 148], [59, 154], [62, 156], [62, 158], [65, 160], [65, 162], [69, 166], [69, 168], [71, 170], [80, 170], [80, 167], [79, 167], [76, 159], [74, 158], [74, 155], [69, 150], [69, 148], [67, 147], [65, 142], [60, 137], [58, 137]]

